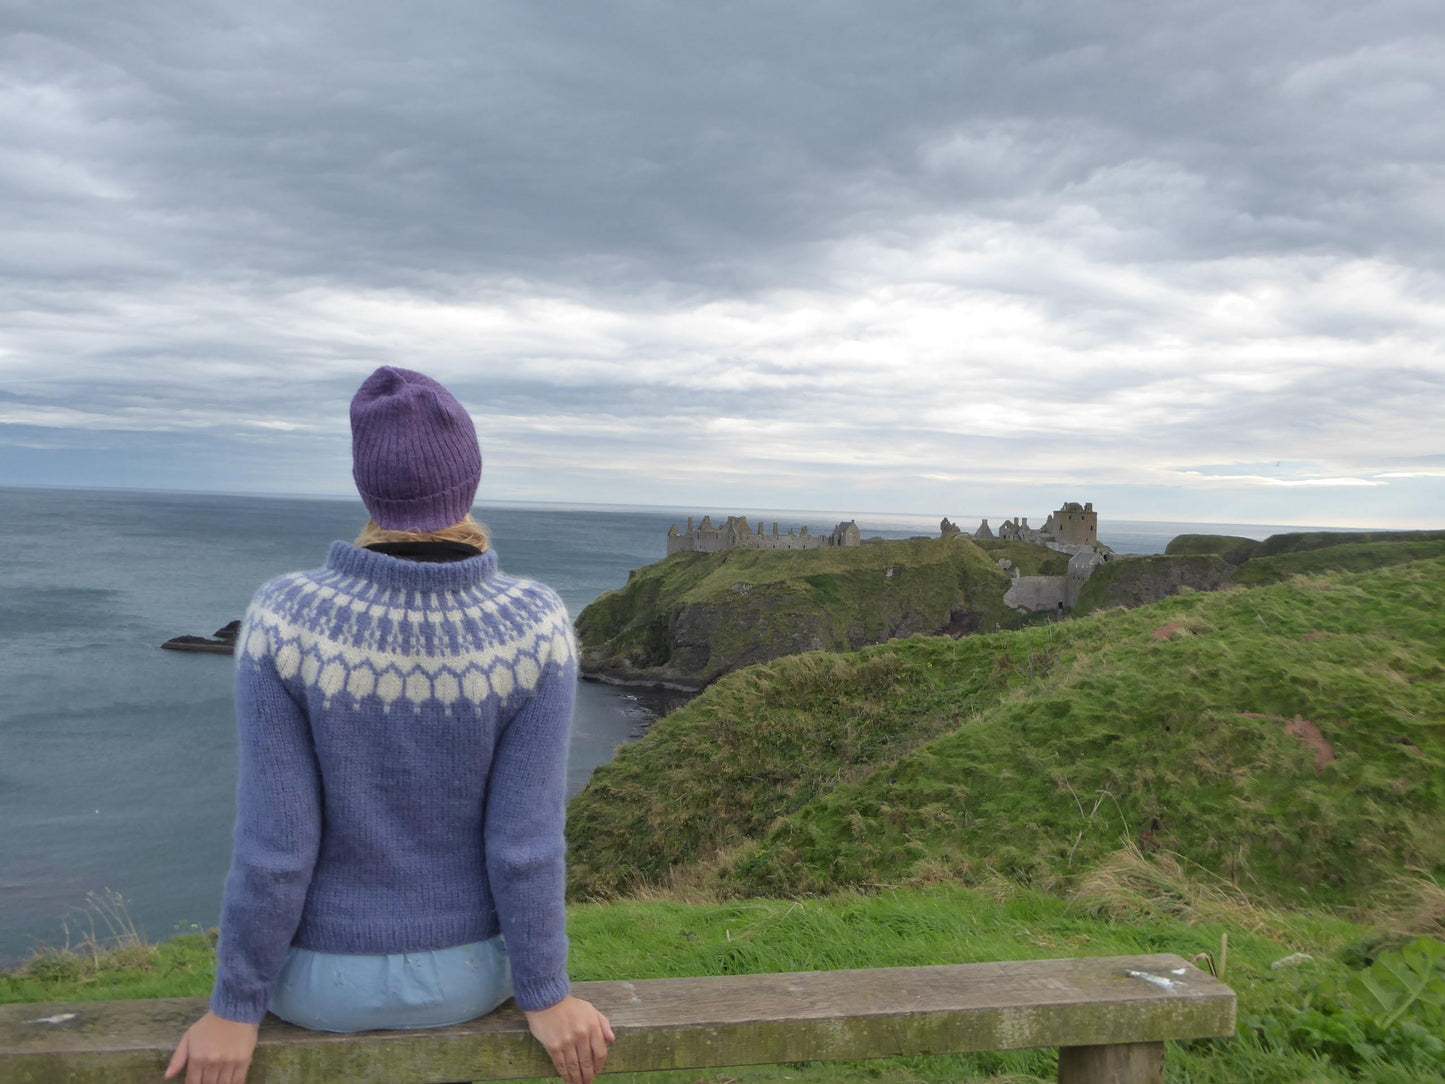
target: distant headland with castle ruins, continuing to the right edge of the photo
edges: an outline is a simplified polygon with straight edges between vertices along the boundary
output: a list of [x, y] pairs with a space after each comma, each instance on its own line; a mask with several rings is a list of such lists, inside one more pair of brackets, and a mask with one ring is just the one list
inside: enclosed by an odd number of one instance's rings
[[613, 684], [701, 689], [721, 675], [812, 650], [857, 650], [916, 635], [968, 636], [1188, 591], [1276, 582], [1445, 554], [1445, 532], [1299, 532], [1263, 542], [1182, 535], [1165, 554], [1098, 542], [1091, 503], [1065, 502], [1042, 528], [988, 520], [936, 538], [754, 530], [709, 516], [668, 532], [669, 555], [633, 569], [577, 619], [582, 674]]

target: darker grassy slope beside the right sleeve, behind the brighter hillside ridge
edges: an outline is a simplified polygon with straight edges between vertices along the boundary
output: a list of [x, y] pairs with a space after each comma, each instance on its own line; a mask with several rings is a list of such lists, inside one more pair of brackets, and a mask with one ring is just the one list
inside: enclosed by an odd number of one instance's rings
[[[617, 750], [568, 809], [569, 882], [611, 898], [746, 843], [1000, 702], [997, 637], [912, 639], [731, 674]], [[1039, 661], [1042, 665], [1042, 659]]]

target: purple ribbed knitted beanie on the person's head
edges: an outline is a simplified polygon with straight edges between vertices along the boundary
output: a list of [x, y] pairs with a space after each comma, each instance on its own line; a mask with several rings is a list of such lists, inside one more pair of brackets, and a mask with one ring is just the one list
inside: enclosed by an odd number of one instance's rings
[[477, 431], [439, 383], [381, 366], [351, 399], [351, 477], [387, 530], [449, 528], [481, 481]]

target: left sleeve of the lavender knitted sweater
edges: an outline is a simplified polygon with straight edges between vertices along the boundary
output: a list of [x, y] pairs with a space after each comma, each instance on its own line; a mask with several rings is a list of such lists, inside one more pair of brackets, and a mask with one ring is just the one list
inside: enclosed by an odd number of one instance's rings
[[[237, 639], [240, 778], [236, 844], [221, 905], [211, 1010], [260, 1023], [301, 924], [321, 844], [321, 783], [311, 728], [276, 671], [276, 643], [251, 604]], [[288, 648], [295, 650], [295, 646]]]

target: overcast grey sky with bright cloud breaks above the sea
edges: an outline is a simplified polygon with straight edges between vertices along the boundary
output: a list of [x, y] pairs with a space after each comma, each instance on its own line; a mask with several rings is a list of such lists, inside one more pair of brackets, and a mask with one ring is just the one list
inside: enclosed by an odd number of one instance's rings
[[[0, 0], [0, 484], [1445, 526], [1439, 0]], [[971, 526], [965, 522], [965, 526]]]

